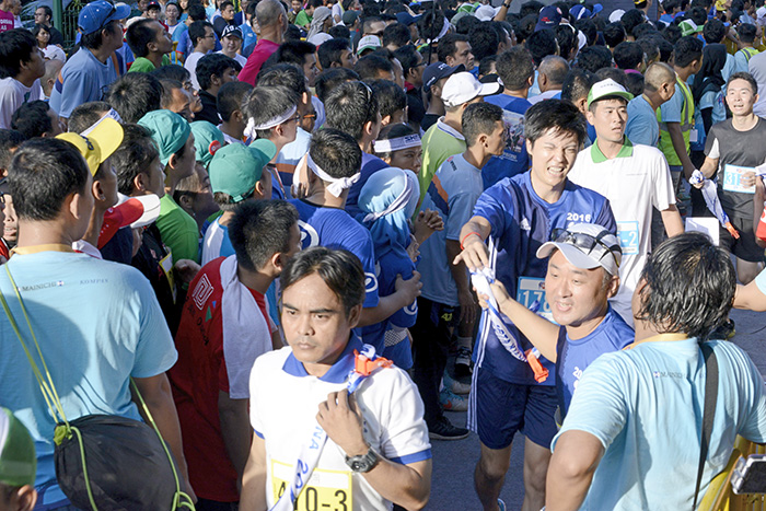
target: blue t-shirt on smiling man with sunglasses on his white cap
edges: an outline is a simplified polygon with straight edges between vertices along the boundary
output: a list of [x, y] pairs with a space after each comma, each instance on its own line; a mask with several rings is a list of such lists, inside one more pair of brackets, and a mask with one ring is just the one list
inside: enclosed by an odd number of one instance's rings
[[610, 306], [604, 320], [582, 339], [570, 339], [567, 328], [559, 329], [556, 346], [556, 394], [561, 417], [566, 416], [569, 403], [582, 372], [602, 353], [617, 351], [636, 338], [636, 333], [623, 316]]

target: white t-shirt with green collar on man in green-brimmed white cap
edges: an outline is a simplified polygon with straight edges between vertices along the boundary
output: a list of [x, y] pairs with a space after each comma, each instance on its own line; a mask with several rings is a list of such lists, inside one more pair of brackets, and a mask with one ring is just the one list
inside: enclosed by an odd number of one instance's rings
[[610, 200], [623, 248], [619, 291], [611, 302], [632, 325], [630, 299], [651, 251], [652, 207], [664, 211], [675, 204], [668, 161], [659, 149], [629, 141], [617, 158], [606, 160], [594, 142], [580, 151], [568, 177]]

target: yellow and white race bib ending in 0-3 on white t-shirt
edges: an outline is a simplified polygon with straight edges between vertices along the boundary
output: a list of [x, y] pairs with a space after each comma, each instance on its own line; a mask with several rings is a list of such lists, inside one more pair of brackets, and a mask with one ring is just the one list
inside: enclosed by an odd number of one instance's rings
[[[287, 480], [294, 477], [292, 465], [271, 460], [271, 490], [276, 502], [289, 488]], [[353, 496], [351, 473], [314, 468], [303, 490], [298, 495], [295, 511], [351, 511]]]

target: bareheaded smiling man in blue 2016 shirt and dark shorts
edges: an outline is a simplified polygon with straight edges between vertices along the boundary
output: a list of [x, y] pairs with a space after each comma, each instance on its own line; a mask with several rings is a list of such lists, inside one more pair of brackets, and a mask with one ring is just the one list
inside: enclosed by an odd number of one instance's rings
[[[494, 271], [514, 297], [539, 289], [546, 264], [535, 253], [550, 240], [553, 229], [589, 222], [616, 232], [610, 202], [567, 179], [585, 138], [580, 111], [560, 100], [543, 101], [526, 112], [524, 136], [532, 156], [531, 171], [504, 178], [481, 194], [474, 217], [461, 230], [463, 252], [454, 262], [462, 260], [472, 271]], [[532, 348], [515, 325], [503, 325], [508, 330], [503, 337], [510, 337], [510, 342], [515, 341], [522, 350]], [[521, 431], [526, 435], [524, 509], [539, 509], [545, 502], [548, 445], [556, 434], [553, 364], [543, 360], [552, 376], [538, 383], [530, 364], [511, 355], [496, 329], [502, 327], [492, 324], [484, 311], [474, 350], [468, 409], [468, 426], [481, 441], [474, 484], [485, 510], [504, 509], [498, 496], [513, 435]]]

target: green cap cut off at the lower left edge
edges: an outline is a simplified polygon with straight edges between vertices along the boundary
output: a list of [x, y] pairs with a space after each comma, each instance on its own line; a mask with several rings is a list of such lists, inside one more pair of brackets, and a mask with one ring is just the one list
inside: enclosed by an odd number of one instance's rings
[[0, 484], [35, 484], [37, 453], [23, 423], [7, 408], [0, 408]]

